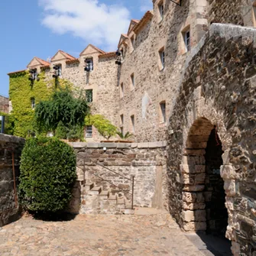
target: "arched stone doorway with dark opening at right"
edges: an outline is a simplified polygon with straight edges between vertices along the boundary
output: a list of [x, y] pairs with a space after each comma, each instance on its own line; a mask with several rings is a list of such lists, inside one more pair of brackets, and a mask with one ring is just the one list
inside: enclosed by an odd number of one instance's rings
[[206, 232], [225, 239], [228, 211], [220, 175], [222, 154], [217, 127], [206, 118], [198, 118], [187, 134], [180, 165], [185, 231]]

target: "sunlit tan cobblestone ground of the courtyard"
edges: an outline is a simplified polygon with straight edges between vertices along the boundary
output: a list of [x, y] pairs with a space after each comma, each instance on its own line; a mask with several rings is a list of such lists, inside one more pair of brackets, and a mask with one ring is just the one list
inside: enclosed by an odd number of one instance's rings
[[199, 256], [167, 213], [78, 215], [68, 222], [23, 217], [0, 228], [0, 255]]

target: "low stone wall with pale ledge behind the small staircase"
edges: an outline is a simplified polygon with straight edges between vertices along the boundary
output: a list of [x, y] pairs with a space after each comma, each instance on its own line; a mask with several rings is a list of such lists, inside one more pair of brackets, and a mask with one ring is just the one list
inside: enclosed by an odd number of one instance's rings
[[[125, 177], [131, 179], [134, 175], [134, 206], [167, 208], [165, 141], [73, 143], [72, 146], [77, 154], [79, 182], [95, 183], [130, 200], [131, 181]], [[74, 194], [77, 205], [79, 191]]]

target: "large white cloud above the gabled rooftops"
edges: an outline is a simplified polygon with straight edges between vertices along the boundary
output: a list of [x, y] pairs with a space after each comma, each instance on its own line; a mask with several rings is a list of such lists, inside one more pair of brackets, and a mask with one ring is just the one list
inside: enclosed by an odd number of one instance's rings
[[115, 50], [130, 23], [127, 8], [97, 0], [39, 0], [39, 5], [44, 8], [45, 27], [57, 34], [71, 33], [105, 50]]

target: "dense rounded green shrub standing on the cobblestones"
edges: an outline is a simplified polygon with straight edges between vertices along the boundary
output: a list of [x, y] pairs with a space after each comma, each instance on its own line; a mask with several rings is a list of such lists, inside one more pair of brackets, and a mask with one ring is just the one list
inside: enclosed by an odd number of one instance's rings
[[21, 154], [19, 199], [25, 209], [57, 212], [71, 199], [76, 154], [57, 138], [29, 138]]

